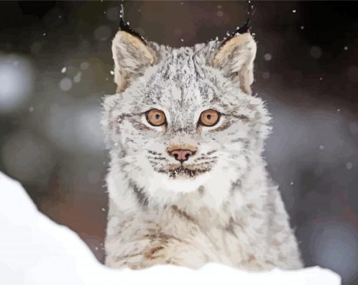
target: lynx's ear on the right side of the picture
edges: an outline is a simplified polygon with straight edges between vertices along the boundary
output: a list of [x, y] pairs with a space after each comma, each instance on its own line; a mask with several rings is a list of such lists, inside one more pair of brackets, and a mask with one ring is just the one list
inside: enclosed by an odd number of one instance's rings
[[251, 94], [255, 56], [256, 42], [251, 34], [239, 34], [221, 46], [213, 57], [213, 67], [223, 70], [225, 76], [239, 76], [241, 90]]

